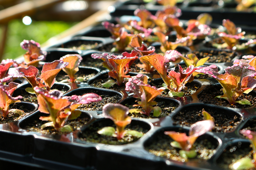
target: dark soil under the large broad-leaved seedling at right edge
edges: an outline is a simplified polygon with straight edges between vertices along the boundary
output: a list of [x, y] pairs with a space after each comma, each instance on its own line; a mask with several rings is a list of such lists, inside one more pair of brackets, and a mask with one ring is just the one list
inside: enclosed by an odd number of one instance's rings
[[[254, 106], [256, 104], [255, 96], [251, 95], [252, 92], [249, 94], [243, 93], [241, 96], [237, 98], [237, 100], [249, 100]], [[235, 105], [229, 104], [228, 100], [215, 98], [216, 96], [222, 96], [223, 92], [221, 87], [217, 85], [208, 85], [201, 93], [198, 94], [197, 98], [205, 104], [214, 104], [218, 106], [225, 106], [225, 107], [234, 107], [234, 108], [249, 108], [252, 107], [250, 105], [241, 105], [236, 103]]]

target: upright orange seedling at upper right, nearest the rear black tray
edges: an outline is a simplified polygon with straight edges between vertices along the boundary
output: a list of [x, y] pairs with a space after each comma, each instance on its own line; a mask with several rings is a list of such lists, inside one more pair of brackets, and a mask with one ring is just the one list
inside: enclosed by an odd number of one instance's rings
[[239, 32], [241, 28], [236, 28], [236, 25], [229, 19], [223, 19], [222, 25], [226, 27], [228, 33], [220, 32], [218, 35], [226, 42], [227, 48], [232, 49], [244, 36], [244, 32]]

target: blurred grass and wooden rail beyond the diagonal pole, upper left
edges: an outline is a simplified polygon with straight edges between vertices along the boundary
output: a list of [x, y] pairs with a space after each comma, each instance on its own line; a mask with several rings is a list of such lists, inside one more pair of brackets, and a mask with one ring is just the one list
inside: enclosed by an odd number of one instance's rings
[[26, 52], [20, 48], [24, 39], [43, 44], [108, 4], [93, 0], [0, 0], [0, 58], [17, 58]]

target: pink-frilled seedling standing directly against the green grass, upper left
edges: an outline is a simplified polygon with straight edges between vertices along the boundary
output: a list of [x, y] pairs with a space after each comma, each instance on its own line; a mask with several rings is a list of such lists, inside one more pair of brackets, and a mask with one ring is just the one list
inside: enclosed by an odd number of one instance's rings
[[24, 60], [26, 65], [32, 65], [37, 67], [39, 61], [45, 60], [47, 52], [41, 50], [40, 44], [38, 42], [35, 42], [33, 40], [23, 40], [20, 43], [20, 47], [24, 50], [28, 50], [28, 52], [24, 54]]

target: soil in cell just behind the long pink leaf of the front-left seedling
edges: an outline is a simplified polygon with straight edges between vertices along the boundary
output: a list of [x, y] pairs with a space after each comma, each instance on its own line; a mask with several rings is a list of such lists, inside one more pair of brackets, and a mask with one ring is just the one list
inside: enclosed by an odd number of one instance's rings
[[108, 103], [117, 103], [119, 100], [121, 100], [121, 96], [120, 95], [115, 95], [115, 96], [111, 96], [111, 95], [100, 95], [100, 97], [102, 98], [101, 101], [98, 102], [92, 102], [90, 104], [82, 104], [79, 107], [77, 107], [77, 109], [80, 110], [98, 110], [101, 111], [102, 107]]

